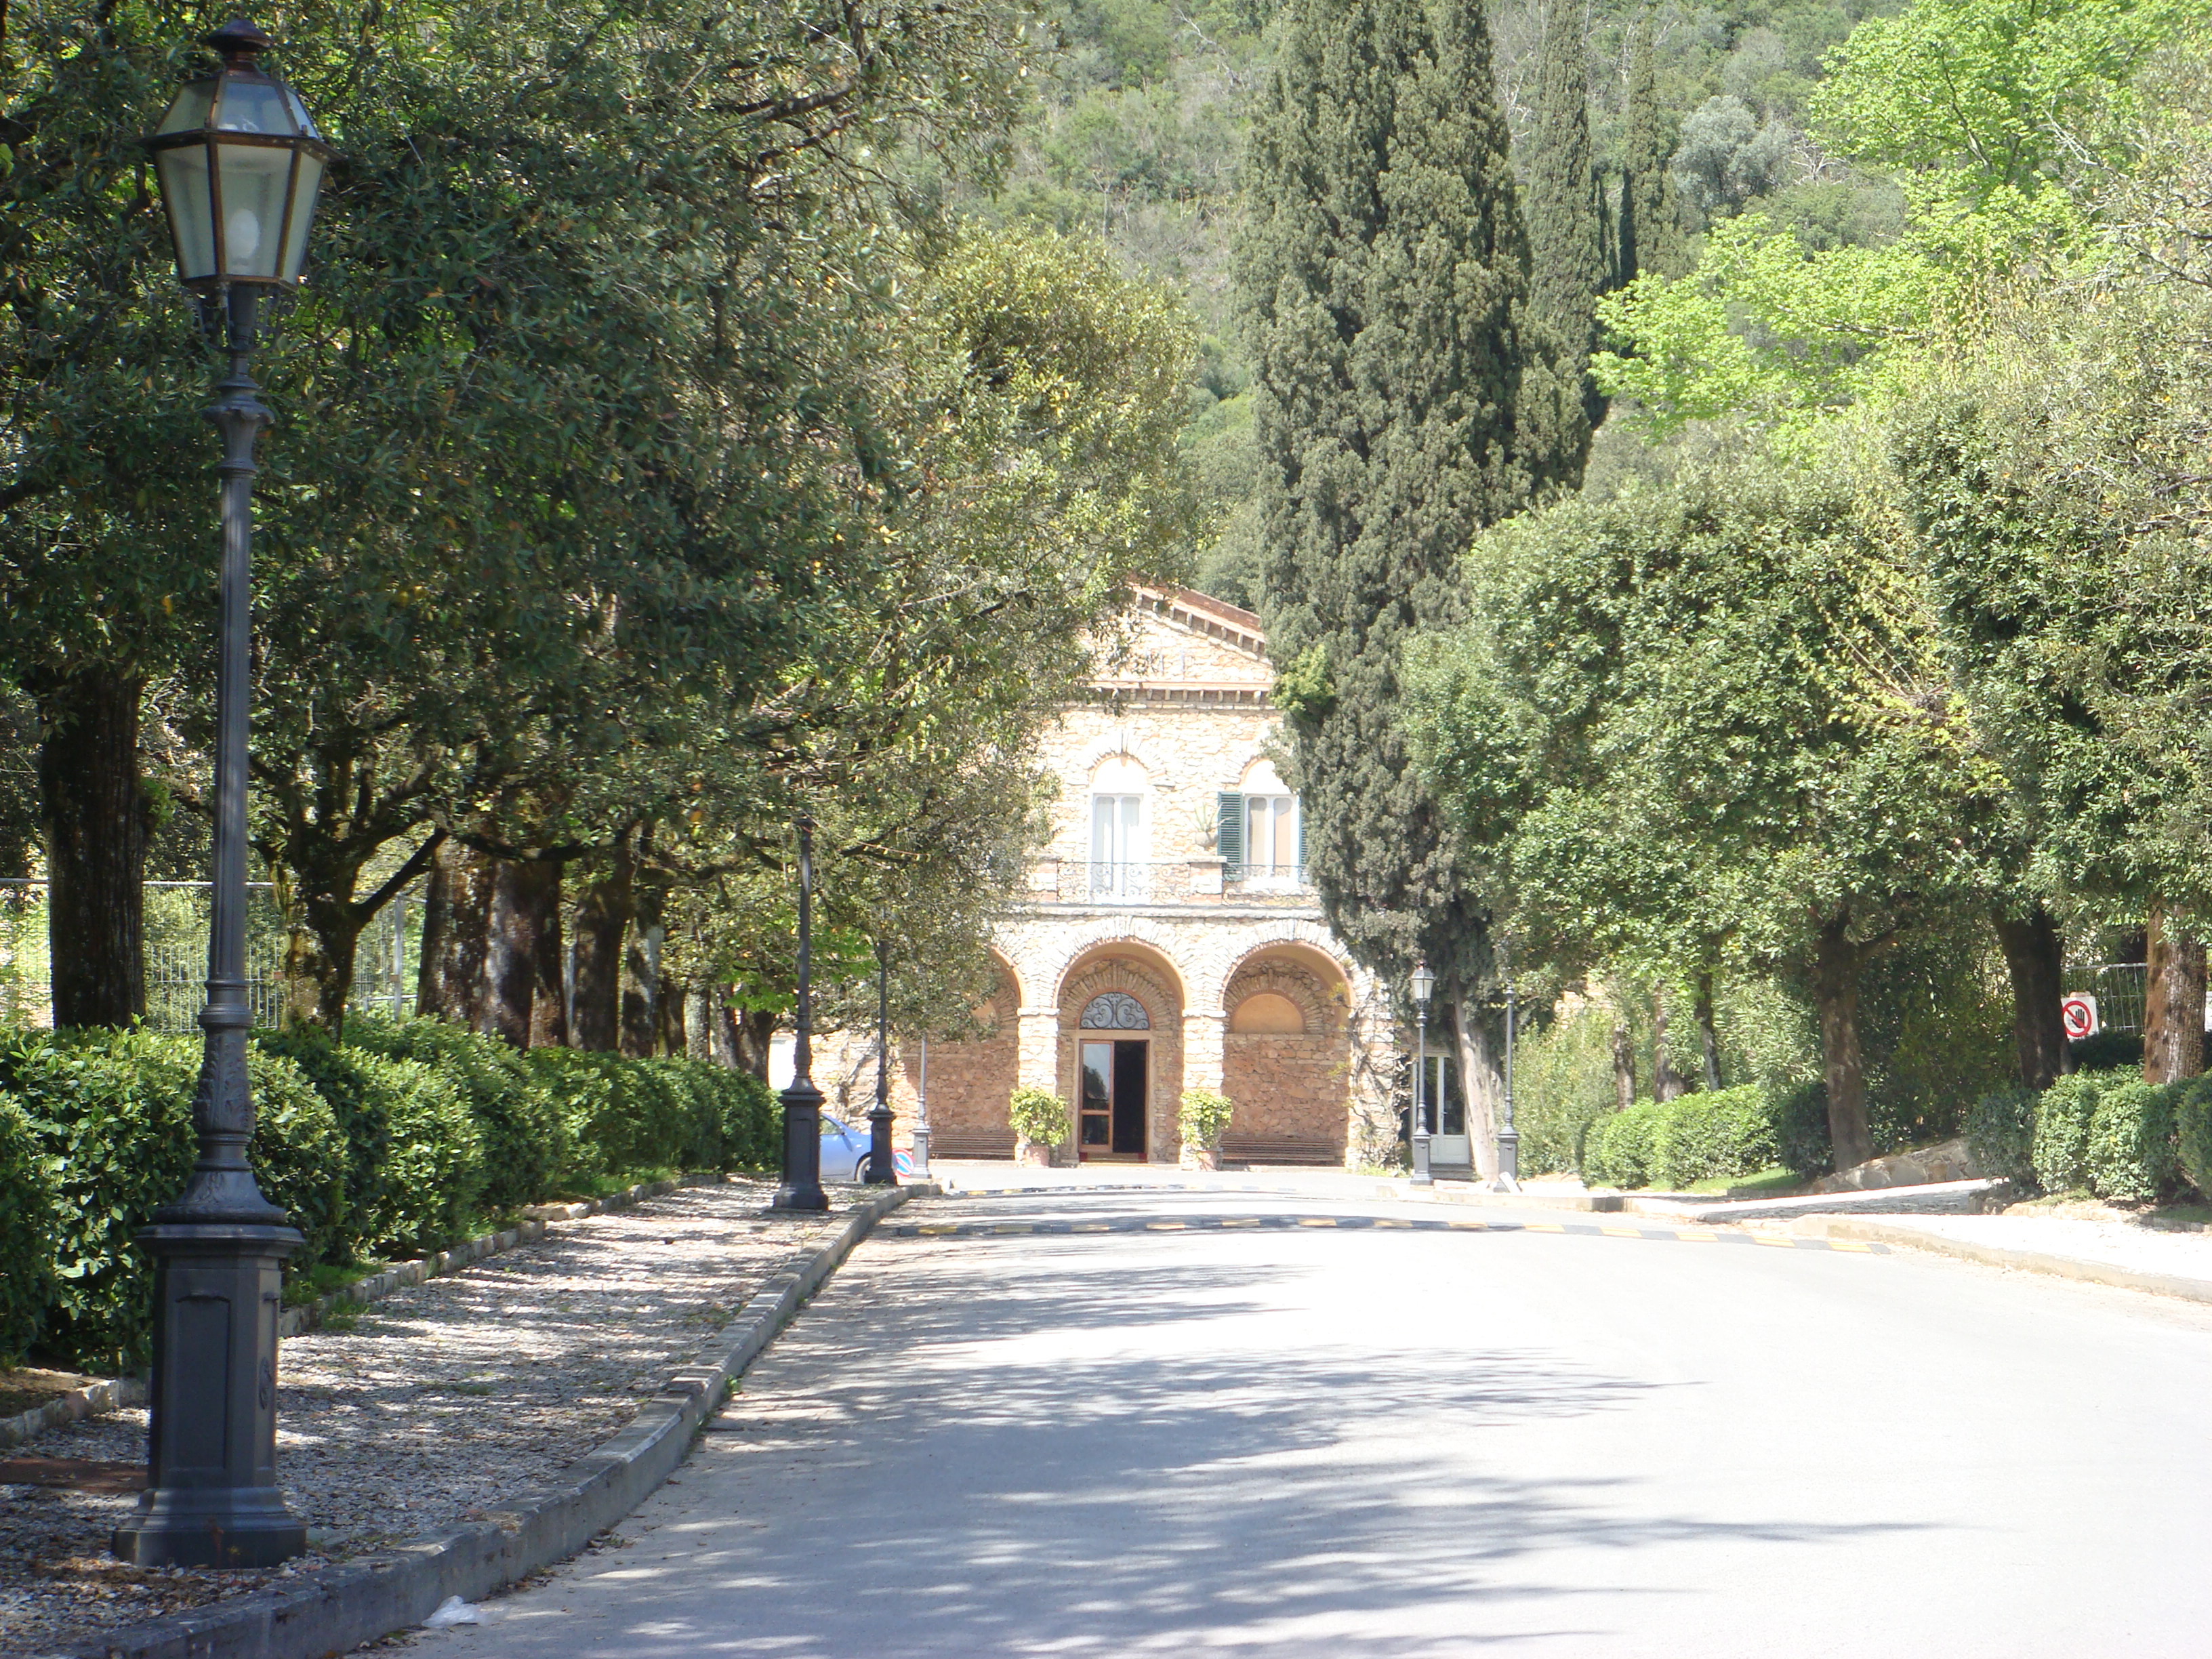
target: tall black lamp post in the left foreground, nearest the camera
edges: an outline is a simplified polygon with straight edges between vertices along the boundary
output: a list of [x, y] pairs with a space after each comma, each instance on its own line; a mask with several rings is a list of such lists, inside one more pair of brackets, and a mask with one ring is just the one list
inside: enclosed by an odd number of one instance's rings
[[252, 628], [254, 438], [270, 411], [246, 372], [263, 296], [299, 283], [332, 150], [292, 88], [259, 66], [272, 42], [246, 20], [204, 38], [223, 66], [195, 80], [146, 139], [201, 323], [230, 372], [208, 420], [223, 434], [221, 670], [215, 692], [215, 894], [206, 1055], [192, 1095], [199, 1159], [175, 1203], [137, 1234], [155, 1256], [153, 1429], [146, 1495], [113, 1551], [139, 1566], [270, 1566], [307, 1548], [276, 1489], [276, 1316], [301, 1234], [246, 1161], [246, 719]]

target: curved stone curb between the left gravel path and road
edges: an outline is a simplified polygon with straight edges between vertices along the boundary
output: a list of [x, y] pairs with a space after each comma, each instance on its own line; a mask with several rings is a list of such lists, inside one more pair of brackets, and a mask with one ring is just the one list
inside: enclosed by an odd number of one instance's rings
[[865, 1199], [825, 1245], [792, 1254], [721, 1332], [721, 1358], [675, 1371], [630, 1427], [568, 1467], [571, 1484], [518, 1500], [476, 1526], [325, 1568], [234, 1601], [111, 1630], [71, 1659], [330, 1659], [422, 1624], [440, 1601], [480, 1601], [504, 1584], [575, 1555], [644, 1502], [684, 1462], [730, 1383], [759, 1356], [876, 1221], [936, 1188]]

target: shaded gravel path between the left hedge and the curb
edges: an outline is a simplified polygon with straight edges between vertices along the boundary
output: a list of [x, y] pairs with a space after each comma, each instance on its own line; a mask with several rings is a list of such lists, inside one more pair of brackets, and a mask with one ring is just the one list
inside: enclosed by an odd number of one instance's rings
[[[772, 1183], [681, 1188], [414, 1285], [283, 1345], [276, 1464], [314, 1551], [283, 1568], [124, 1566], [128, 1493], [0, 1486], [0, 1655], [135, 1624], [507, 1509], [619, 1431], [790, 1252], [838, 1225], [770, 1219]], [[144, 1462], [146, 1413], [55, 1429], [24, 1458]]]

